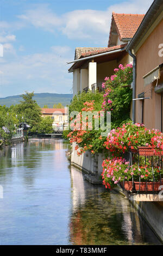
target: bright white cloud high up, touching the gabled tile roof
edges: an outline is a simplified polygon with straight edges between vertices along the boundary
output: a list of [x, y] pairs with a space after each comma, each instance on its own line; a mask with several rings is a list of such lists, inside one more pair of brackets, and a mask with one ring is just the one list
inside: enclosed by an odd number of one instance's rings
[[109, 36], [111, 13], [145, 14], [152, 0], [132, 0], [112, 4], [105, 11], [74, 10], [57, 16], [47, 4], [27, 10], [18, 18], [35, 27], [49, 32], [61, 32], [69, 39], [82, 39], [88, 42], [106, 45]]

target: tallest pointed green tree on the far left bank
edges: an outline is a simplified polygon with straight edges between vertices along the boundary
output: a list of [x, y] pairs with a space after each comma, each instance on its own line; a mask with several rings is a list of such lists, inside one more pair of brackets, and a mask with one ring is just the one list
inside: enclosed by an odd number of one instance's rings
[[41, 121], [41, 109], [33, 100], [34, 92], [21, 95], [23, 98], [18, 105], [18, 113], [22, 114], [24, 120], [30, 125], [30, 131], [36, 132]]

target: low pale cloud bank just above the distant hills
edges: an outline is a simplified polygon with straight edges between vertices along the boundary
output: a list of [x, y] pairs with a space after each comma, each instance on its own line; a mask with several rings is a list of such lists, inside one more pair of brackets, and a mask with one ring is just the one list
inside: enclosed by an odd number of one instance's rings
[[[1, 96], [7, 96], [9, 92], [11, 95], [14, 92], [21, 94], [27, 89], [35, 92], [70, 93], [72, 77], [68, 74], [65, 63], [70, 59], [72, 50], [66, 46], [60, 48], [60, 52], [59, 46], [53, 46], [47, 53], [15, 56], [10, 62], [2, 63]], [[54, 49], [58, 49], [58, 53]]]

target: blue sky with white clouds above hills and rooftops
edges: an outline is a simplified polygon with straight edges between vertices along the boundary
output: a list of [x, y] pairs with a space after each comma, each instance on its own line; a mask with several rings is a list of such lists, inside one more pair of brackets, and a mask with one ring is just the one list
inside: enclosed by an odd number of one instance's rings
[[71, 93], [75, 47], [106, 47], [111, 12], [146, 13], [152, 0], [1, 0], [0, 97]]

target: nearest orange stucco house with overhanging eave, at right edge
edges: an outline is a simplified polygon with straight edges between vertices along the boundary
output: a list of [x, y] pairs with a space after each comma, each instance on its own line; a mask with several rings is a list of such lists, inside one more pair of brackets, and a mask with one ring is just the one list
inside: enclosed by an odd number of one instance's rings
[[133, 119], [149, 129], [163, 126], [163, 2], [155, 0], [127, 50], [135, 54]]

